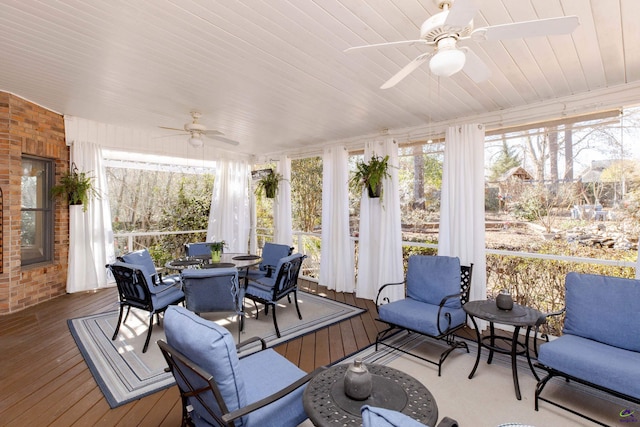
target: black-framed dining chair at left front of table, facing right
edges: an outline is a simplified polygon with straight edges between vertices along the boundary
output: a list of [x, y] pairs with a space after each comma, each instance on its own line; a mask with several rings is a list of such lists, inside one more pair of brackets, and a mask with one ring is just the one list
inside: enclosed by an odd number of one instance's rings
[[[147, 330], [147, 339], [142, 348], [142, 352], [146, 353], [153, 330], [153, 315], [155, 314], [156, 322], [160, 324], [160, 313], [164, 312], [169, 305], [179, 304], [184, 301], [184, 293], [177, 284], [151, 285], [149, 276], [141, 265], [116, 261], [113, 264], [107, 264], [107, 268], [111, 270], [113, 277], [116, 279], [120, 300], [118, 323], [111, 340], [114, 341], [118, 336], [120, 325], [127, 321], [131, 307], [148, 311], [149, 329]], [[122, 313], [125, 307], [127, 308], [127, 313], [123, 319]]]

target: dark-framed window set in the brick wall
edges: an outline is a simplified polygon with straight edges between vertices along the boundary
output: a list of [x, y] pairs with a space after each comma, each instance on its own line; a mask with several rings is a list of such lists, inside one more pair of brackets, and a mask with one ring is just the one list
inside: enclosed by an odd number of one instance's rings
[[52, 183], [52, 160], [22, 157], [20, 249], [23, 266], [52, 260]]

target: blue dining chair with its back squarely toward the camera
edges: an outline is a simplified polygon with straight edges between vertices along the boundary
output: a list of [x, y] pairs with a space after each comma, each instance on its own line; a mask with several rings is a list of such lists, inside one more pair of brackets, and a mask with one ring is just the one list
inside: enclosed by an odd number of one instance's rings
[[[182, 272], [185, 306], [196, 314], [217, 311], [235, 312], [238, 334], [242, 332], [244, 287], [238, 282], [236, 268], [187, 269]], [[239, 335], [238, 335], [239, 336]]]

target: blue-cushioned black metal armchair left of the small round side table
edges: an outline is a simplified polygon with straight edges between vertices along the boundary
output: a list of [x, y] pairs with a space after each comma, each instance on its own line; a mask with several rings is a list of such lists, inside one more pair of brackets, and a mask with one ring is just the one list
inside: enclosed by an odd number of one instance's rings
[[[466, 324], [467, 315], [462, 305], [469, 299], [473, 265], [461, 266], [457, 257], [413, 255], [409, 257], [407, 276], [404, 282], [389, 283], [380, 288], [376, 297], [378, 319], [388, 325], [376, 337], [378, 344], [386, 345], [406, 354], [438, 366], [456, 348], [469, 348], [464, 341], [455, 339], [454, 332]], [[405, 285], [406, 297], [388, 303], [381, 298], [387, 286]], [[387, 302], [383, 304], [383, 302]], [[448, 348], [440, 354], [438, 361], [430, 360], [385, 342], [398, 330], [416, 332], [443, 340]]]

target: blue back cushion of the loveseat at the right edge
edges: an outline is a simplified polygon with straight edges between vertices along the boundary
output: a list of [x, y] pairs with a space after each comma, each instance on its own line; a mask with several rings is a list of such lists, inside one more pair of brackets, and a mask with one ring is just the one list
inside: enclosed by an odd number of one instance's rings
[[569, 273], [563, 333], [640, 351], [640, 280]]

